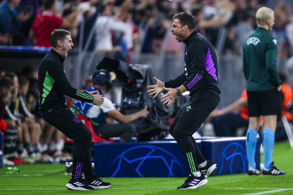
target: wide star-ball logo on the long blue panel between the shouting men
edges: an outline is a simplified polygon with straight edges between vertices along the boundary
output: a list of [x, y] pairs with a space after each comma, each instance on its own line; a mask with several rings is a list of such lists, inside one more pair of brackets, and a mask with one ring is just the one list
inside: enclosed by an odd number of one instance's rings
[[121, 172], [133, 171], [139, 177], [156, 177], [156, 170], [163, 172], [163, 177], [185, 175], [178, 159], [167, 150], [157, 146], [135, 146], [120, 153], [110, 165], [114, 170], [111, 177], [120, 177]]

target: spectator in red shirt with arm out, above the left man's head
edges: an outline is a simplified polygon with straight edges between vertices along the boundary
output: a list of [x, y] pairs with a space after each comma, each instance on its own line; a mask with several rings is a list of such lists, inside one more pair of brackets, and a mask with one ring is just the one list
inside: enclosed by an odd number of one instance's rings
[[50, 34], [59, 28], [69, 29], [77, 26], [78, 11], [68, 14], [64, 18], [56, 16], [56, 5], [53, 0], [43, 1], [44, 11], [36, 18], [30, 29], [29, 39], [32, 45], [51, 47]]

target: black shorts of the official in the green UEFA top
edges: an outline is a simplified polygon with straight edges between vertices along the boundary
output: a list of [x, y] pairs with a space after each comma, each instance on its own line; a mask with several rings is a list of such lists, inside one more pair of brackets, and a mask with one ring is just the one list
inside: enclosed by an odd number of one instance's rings
[[268, 91], [248, 91], [248, 116], [281, 115], [282, 92], [276, 88]]

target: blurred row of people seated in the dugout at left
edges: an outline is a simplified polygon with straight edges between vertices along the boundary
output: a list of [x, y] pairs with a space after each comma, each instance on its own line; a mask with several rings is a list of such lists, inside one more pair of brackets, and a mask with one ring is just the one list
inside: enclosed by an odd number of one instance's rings
[[[5, 135], [4, 165], [35, 163], [41, 160], [41, 153], [48, 150], [52, 153], [42, 155], [45, 161], [52, 161], [52, 157], [69, 156], [62, 153], [64, 135], [40, 116], [36, 71], [27, 67], [17, 75], [2, 70], [0, 79], [0, 130]], [[54, 145], [48, 148], [51, 139]]]

